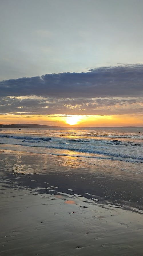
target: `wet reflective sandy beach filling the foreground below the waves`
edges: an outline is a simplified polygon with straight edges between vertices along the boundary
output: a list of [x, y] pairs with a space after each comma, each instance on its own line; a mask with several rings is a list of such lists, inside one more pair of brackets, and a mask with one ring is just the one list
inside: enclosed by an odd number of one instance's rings
[[143, 175], [0, 151], [0, 255], [142, 255]]

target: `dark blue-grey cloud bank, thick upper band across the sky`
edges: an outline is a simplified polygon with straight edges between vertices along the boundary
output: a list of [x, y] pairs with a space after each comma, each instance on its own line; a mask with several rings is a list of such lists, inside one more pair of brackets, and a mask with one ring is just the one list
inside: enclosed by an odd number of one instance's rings
[[0, 82], [0, 95], [49, 98], [143, 96], [143, 65], [100, 67], [87, 73], [47, 74]]

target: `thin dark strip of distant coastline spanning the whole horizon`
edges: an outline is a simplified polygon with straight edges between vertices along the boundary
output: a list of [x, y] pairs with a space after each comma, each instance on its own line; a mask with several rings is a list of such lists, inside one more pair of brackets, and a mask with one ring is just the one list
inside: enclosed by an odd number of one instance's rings
[[2, 128], [115, 128], [115, 127], [138, 127], [142, 128], [143, 126], [51, 126], [44, 124], [0, 124], [0, 129]]

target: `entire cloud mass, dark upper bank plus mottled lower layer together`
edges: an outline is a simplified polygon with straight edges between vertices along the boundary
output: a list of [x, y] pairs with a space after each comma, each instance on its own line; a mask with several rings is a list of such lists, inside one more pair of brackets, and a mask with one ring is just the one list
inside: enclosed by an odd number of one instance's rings
[[143, 65], [127, 65], [1, 81], [0, 114], [142, 113], [142, 71]]

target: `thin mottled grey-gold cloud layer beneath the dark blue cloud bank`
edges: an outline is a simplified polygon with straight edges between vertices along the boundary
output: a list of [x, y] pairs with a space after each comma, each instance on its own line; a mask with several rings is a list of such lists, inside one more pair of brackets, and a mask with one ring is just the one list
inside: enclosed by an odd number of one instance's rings
[[143, 110], [143, 98], [0, 98], [1, 114], [83, 114], [113, 115], [139, 113]]

